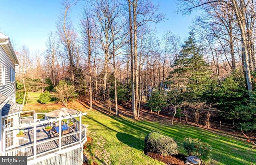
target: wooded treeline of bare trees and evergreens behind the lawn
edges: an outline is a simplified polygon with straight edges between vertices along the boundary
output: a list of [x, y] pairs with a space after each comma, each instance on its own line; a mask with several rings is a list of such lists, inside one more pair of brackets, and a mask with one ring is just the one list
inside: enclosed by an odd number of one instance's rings
[[93, 99], [113, 100], [116, 115], [119, 101], [132, 101], [138, 119], [140, 102], [149, 100], [152, 110], [171, 105], [173, 117], [197, 124], [203, 117], [210, 127], [214, 117], [256, 129], [253, 1], [179, 0], [181, 12], [202, 12], [185, 41], [170, 31], [155, 36], [154, 24], [165, 16], [151, 0], [87, 0], [74, 26], [69, 14], [77, 3], [62, 1], [45, 52], [17, 52], [20, 89], [36, 90], [35, 82], [37, 90], [54, 92], [64, 80], [90, 108]]

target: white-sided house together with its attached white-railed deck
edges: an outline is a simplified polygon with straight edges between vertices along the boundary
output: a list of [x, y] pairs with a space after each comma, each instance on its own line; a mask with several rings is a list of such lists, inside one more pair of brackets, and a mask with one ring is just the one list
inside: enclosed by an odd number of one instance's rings
[[10, 39], [0, 32], [0, 156], [25, 156], [27, 165], [82, 165], [88, 125], [81, 121], [86, 113], [49, 118], [22, 111], [15, 103], [16, 65]]

